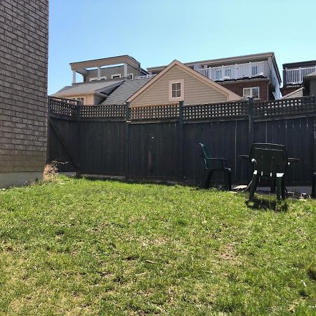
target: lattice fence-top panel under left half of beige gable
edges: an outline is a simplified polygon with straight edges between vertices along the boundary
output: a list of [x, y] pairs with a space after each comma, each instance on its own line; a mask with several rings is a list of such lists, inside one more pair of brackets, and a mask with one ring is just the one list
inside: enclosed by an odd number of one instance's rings
[[155, 105], [148, 107], [131, 107], [129, 119], [173, 119], [179, 117], [179, 105]]

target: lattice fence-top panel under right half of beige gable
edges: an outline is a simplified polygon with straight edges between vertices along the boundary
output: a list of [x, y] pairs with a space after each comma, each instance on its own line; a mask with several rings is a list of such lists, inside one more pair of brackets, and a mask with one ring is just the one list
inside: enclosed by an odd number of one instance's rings
[[248, 102], [185, 105], [183, 119], [210, 119], [244, 117], [248, 114]]

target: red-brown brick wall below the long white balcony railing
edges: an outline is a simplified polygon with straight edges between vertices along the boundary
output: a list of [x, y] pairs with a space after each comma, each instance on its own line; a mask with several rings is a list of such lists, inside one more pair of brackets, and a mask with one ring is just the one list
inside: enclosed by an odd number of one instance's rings
[[225, 86], [228, 90], [236, 93], [238, 96], [243, 96], [243, 88], [259, 87], [259, 98], [263, 101], [271, 100], [268, 96], [269, 80], [251, 80], [251, 81], [226, 81], [218, 82], [220, 86]]

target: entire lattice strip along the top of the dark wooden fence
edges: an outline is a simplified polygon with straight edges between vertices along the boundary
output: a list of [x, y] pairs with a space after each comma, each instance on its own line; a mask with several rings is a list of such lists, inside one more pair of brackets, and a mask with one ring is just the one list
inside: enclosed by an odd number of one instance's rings
[[[131, 121], [177, 119], [180, 114], [179, 104], [150, 105], [130, 107], [126, 117], [126, 105], [79, 105], [75, 100], [49, 98], [51, 114], [78, 119], [127, 119]], [[196, 119], [232, 119], [246, 117], [249, 105], [254, 110], [254, 117], [275, 117], [278, 115], [305, 114], [316, 112], [316, 97], [302, 97], [272, 101], [249, 100], [230, 103], [210, 103], [203, 105], [184, 105], [183, 120]]]

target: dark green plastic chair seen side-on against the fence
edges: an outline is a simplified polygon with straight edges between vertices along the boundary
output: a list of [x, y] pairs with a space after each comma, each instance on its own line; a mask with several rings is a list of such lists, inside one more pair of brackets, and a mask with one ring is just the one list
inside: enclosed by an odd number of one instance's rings
[[[199, 143], [201, 148], [202, 158], [204, 159], [205, 172], [202, 180], [202, 187], [208, 189], [214, 171], [224, 173], [224, 190], [230, 191], [232, 189], [232, 171], [227, 167], [227, 159], [225, 158], [212, 158], [207, 150], [206, 145]], [[216, 166], [216, 164], [218, 166]]]

